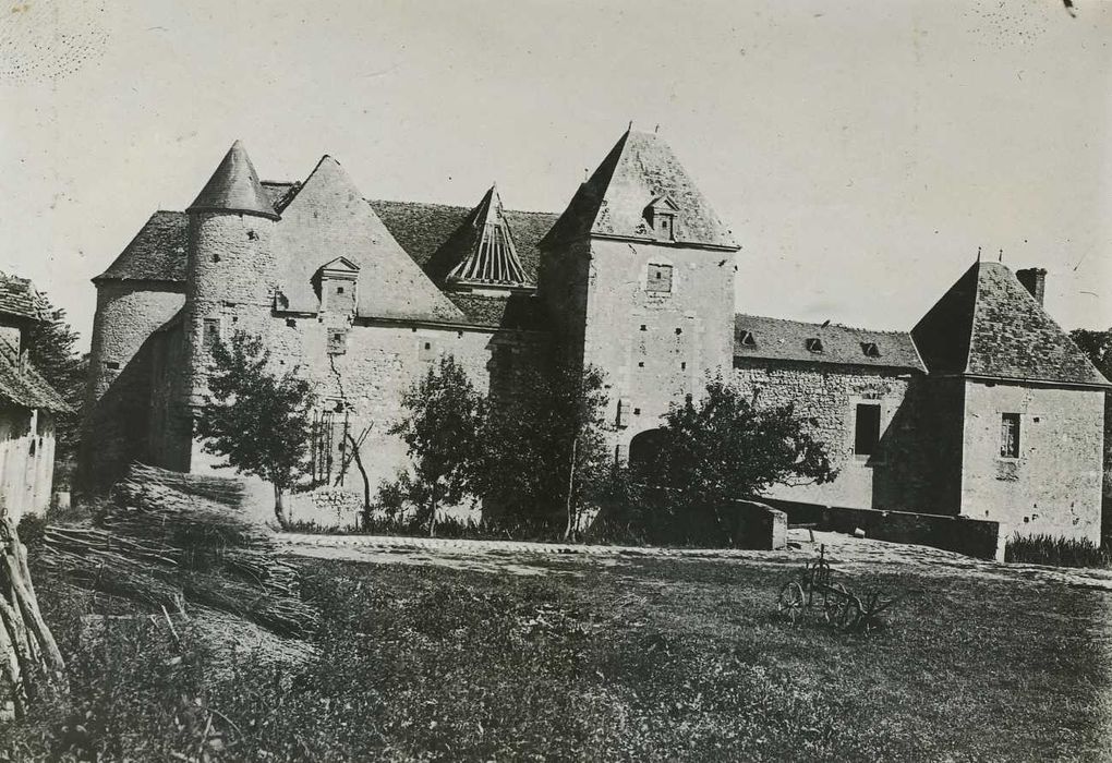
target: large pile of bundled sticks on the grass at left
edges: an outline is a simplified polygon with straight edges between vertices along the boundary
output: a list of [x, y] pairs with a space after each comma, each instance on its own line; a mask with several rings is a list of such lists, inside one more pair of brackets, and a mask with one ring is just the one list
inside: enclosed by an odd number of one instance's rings
[[92, 527], [46, 528], [42, 559], [79, 587], [156, 611], [193, 603], [278, 635], [308, 635], [317, 613], [301, 602], [297, 571], [279, 558], [274, 532], [246, 501], [238, 479], [136, 464]]

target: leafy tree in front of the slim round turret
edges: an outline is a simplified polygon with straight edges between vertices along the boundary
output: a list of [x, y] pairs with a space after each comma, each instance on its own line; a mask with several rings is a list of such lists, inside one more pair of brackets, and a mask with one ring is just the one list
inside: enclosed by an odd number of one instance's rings
[[275, 516], [286, 524], [285, 495], [308, 473], [315, 397], [292, 368], [269, 370], [270, 351], [258, 337], [236, 331], [212, 347], [211, 400], [198, 414], [205, 452], [227, 458], [220, 467], [261, 477], [274, 486]]

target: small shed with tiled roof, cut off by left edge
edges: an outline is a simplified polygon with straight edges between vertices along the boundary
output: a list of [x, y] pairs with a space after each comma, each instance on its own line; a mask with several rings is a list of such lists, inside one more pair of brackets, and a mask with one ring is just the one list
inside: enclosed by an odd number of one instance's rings
[[41, 319], [31, 283], [0, 272], [0, 512], [16, 522], [50, 506], [54, 416], [71, 412], [28, 359]]

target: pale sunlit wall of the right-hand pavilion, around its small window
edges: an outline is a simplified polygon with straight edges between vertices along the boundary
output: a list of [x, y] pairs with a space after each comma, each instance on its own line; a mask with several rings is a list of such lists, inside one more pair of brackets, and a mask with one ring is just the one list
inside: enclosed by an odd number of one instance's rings
[[[966, 380], [962, 514], [1006, 534], [1100, 542], [1104, 393]], [[1017, 458], [1001, 417], [1020, 415]]]

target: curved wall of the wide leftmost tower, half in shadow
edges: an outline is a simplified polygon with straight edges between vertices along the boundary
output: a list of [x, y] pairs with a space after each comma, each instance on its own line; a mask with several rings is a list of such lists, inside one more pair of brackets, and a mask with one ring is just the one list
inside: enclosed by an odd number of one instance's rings
[[147, 452], [151, 337], [183, 304], [180, 284], [97, 285], [78, 472], [82, 488], [107, 486]]

